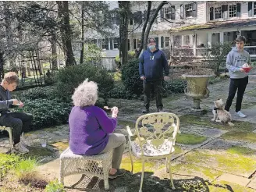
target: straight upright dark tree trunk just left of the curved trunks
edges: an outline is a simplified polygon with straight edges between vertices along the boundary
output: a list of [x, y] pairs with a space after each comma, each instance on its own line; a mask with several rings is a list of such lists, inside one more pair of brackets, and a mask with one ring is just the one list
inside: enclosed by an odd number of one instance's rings
[[128, 62], [128, 20], [130, 12], [130, 2], [119, 1], [120, 9], [120, 25], [119, 25], [119, 40], [120, 52], [119, 57], [122, 58], [122, 65]]

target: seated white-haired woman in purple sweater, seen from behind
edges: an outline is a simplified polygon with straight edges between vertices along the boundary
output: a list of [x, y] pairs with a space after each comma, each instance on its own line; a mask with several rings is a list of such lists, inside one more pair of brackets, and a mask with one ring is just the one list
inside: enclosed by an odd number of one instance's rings
[[126, 137], [112, 133], [116, 129], [118, 108], [112, 108], [112, 118], [104, 110], [94, 106], [98, 99], [98, 85], [84, 80], [73, 96], [72, 111], [69, 115], [69, 148], [77, 155], [98, 155], [113, 150], [112, 169], [109, 178], [123, 176], [119, 169]]

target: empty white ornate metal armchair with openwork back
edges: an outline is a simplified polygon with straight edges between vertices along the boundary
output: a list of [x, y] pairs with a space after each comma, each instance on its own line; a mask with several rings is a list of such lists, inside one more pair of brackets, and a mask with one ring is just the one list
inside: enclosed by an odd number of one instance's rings
[[[174, 145], [177, 133], [180, 133], [180, 119], [173, 113], [158, 112], [140, 116], [135, 124], [135, 133], [127, 126], [129, 138], [129, 153], [133, 172], [133, 154], [142, 160], [142, 173], [140, 190], [144, 180], [144, 162], [147, 159], [166, 158], [166, 172], [169, 172], [172, 190], [175, 190], [172, 172], [171, 158], [175, 151]], [[132, 139], [133, 138], [133, 139]]]

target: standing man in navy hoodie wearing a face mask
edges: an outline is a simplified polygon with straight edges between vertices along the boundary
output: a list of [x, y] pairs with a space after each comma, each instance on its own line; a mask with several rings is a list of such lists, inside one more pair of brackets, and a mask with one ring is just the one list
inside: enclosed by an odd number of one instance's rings
[[[156, 94], [156, 107], [158, 112], [162, 111], [162, 80], [169, 79], [169, 66], [165, 54], [155, 47], [155, 38], [148, 39], [148, 49], [140, 56], [139, 73], [140, 80], [144, 84], [144, 110], [149, 112], [150, 93], [154, 89]], [[163, 76], [163, 70], [165, 76]]]

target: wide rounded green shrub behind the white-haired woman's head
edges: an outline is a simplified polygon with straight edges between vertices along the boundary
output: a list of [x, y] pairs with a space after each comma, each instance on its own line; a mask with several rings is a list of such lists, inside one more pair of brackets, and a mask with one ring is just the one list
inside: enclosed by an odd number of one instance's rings
[[57, 76], [56, 92], [59, 98], [70, 99], [75, 88], [85, 79], [98, 84], [99, 97], [108, 100], [108, 92], [114, 86], [114, 80], [107, 69], [90, 64], [69, 66], [59, 70]]

